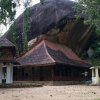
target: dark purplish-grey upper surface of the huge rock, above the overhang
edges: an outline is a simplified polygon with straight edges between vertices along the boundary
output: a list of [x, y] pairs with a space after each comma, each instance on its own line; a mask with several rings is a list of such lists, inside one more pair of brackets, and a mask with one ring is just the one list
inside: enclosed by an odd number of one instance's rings
[[[44, 4], [36, 4], [30, 8], [31, 32], [28, 40], [40, 34], [45, 34], [64, 17], [73, 18], [73, 2], [69, 0], [45, 0]], [[23, 32], [23, 14], [16, 19], [17, 38]], [[5, 36], [11, 40], [11, 29]]]

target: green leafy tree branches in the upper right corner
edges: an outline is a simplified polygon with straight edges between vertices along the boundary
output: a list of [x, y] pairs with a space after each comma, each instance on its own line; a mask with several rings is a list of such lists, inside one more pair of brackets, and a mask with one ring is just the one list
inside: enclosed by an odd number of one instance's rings
[[75, 10], [87, 17], [85, 22], [96, 27], [96, 33], [100, 34], [100, 0], [77, 0]]

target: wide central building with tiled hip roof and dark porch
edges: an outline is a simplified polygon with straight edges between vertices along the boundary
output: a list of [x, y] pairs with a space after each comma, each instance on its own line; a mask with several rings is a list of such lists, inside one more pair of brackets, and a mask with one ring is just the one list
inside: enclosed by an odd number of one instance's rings
[[[17, 59], [14, 81], [84, 81], [90, 66], [70, 48], [42, 40]], [[86, 76], [84, 73], [88, 73]]]

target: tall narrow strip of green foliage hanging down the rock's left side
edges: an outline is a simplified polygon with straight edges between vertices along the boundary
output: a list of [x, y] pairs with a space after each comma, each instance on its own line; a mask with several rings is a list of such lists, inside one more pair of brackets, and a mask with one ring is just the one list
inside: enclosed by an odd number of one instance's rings
[[31, 27], [31, 22], [30, 22], [30, 11], [29, 11], [29, 6], [30, 6], [31, 0], [26, 0], [24, 2], [24, 7], [25, 11], [23, 14], [23, 34], [22, 34], [22, 40], [23, 40], [23, 52], [28, 50], [28, 34], [30, 33], [30, 27]]

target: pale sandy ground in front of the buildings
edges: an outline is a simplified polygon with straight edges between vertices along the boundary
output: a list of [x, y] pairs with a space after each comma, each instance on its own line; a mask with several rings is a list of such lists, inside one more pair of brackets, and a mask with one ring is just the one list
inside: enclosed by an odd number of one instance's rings
[[100, 86], [67, 85], [0, 89], [0, 100], [100, 100]]

